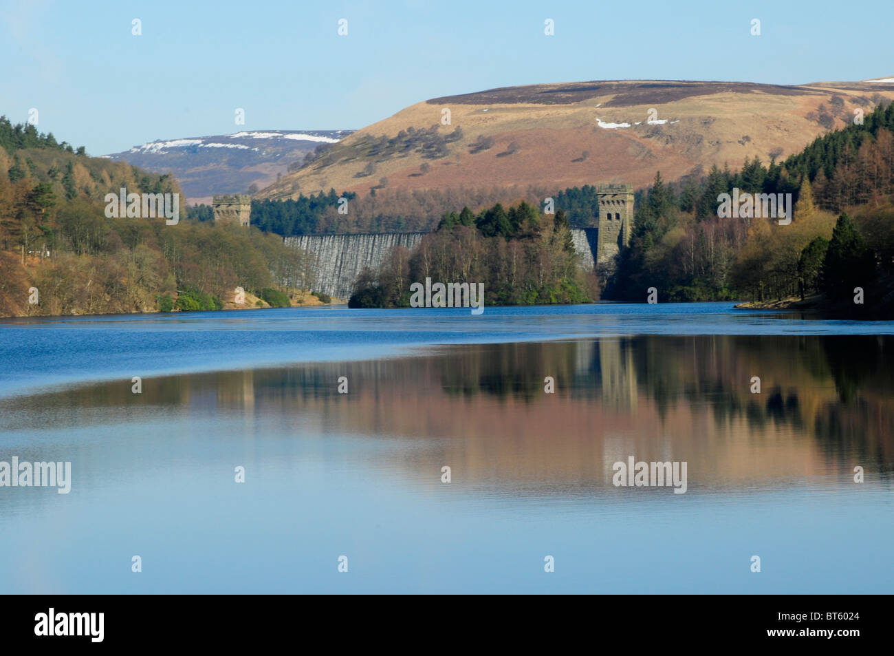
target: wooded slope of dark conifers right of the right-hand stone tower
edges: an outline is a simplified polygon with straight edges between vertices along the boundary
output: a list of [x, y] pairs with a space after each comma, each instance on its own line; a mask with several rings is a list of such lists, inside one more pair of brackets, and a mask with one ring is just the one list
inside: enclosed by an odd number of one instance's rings
[[[848, 286], [853, 294], [880, 284], [894, 256], [892, 132], [894, 106], [878, 106], [864, 124], [830, 132], [782, 163], [754, 158], [735, 172], [713, 166], [675, 184], [656, 175], [639, 197], [629, 248], [604, 295], [641, 300], [654, 286], [668, 301], [840, 298]], [[792, 223], [718, 217], [718, 196], [734, 188], [790, 193]]]

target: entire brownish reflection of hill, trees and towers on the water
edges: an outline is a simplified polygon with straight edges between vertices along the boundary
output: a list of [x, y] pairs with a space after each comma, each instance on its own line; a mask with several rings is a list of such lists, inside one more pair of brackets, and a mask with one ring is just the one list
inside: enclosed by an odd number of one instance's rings
[[[416, 358], [144, 379], [140, 396], [122, 381], [10, 399], [0, 426], [210, 414], [233, 435], [259, 437], [274, 421], [289, 439], [348, 433], [397, 445], [346, 455], [373, 458], [369, 466], [430, 477], [450, 464], [456, 482], [519, 490], [612, 490], [611, 464], [630, 455], [687, 461], [691, 489], [827, 473], [844, 485], [854, 465], [871, 477], [894, 460], [891, 344], [648, 336], [451, 346]], [[340, 376], [348, 395], [336, 391]], [[547, 376], [554, 395], [544, 394]], [[760, 395], [749, 392], [753, 376]]]

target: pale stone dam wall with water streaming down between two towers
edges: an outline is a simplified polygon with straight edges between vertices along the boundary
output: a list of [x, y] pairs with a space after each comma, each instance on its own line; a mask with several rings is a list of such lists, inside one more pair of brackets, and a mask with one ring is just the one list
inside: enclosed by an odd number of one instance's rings
[[[597, 228], [571, 230], [571, 241], [581, 255], [581, 267], [587, 270], [593, 270], [598, 232]], [[395, 246], [412, 250], [425, 234], [302, 234], [286, 237], [284, 242], [316, 255], [313, 291], [347, 300], [354, 279], [364, 267], [378, 268]]]

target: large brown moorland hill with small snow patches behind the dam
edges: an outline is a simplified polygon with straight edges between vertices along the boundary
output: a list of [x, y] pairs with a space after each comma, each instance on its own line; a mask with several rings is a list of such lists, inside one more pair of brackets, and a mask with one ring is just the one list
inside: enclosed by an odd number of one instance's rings
[[[645, 186], [788, 157], [855, 110], [894, 99], [890, 78], [781, 86], [749, 82], [591, 81], [434, 98], [354, 132], [258, 199], [358, 192], [592, 183]], [[450, 124], [441, 124], [443, 109]], [[650, 112], [653, 110], [654, 112]]]

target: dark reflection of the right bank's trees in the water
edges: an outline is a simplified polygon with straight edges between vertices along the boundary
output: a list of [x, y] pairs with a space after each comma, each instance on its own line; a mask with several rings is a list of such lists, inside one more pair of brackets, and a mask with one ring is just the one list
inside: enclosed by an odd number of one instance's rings
[[[813, 336], [643, 336], [630, 340], [640, 394], [650, 397], [662, 417], [685, 401], [709, 406], [718, 426], [744, 417], [752, 430], [770, 422], [796, 430], [814, 428], [836, 440], [857, 426], [883, 439], [890, 423], [867, 418], [848, 406], [871, 391], [877, 416], [887, 417], [894, 397], [887, 337]], [[751, 394], [751, 379], [762, 380]], [[837, 396], [831, 396], [832, 385]], [[806, 398], [806, 400], [805, 400]], [[851, 428], [841, 423], [847, 414]], [[822, 436], [819, 435], [823, 427]]]

